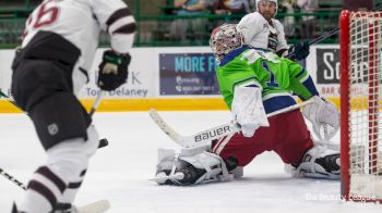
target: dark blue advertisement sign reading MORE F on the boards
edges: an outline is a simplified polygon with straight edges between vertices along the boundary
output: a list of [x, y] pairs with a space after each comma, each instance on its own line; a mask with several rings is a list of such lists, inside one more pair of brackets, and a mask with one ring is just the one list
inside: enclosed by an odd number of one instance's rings
[[163, 96], [219, 95], [212, 53], [162, 53], [159, 70]]

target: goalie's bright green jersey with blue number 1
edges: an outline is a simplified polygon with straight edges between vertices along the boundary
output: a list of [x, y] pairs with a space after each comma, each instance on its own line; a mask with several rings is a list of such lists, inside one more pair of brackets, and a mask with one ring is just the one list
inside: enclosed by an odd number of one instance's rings
[[319, 95], [312, 78], [301, 65], [273, 52], [247, 46], [225, 55], [216, 75], [229, 109], [234, 89], [239, 85], [262, 88], [266, 113], [296, 104], [293, 95], [302, 100]]

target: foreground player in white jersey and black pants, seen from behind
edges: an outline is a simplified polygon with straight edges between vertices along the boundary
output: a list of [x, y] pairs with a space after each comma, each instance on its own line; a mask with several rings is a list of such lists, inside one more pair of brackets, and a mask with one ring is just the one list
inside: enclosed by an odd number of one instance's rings
[[47, 160], [13, 212], [71, 208], [99, 143], [75, 95], [88, 82], [100, 32], [109, 34], [111, 47], [97, 85], [115, 90], [126, 83], [135, 28], [122, 0], [45, 0], [29, 15], [12, 64], [12, 95], [32, 118]]

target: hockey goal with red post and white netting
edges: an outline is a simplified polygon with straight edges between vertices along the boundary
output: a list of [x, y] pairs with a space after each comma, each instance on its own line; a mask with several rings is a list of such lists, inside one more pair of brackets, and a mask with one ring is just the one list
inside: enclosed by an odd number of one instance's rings
[[343, 11], [341, 166], [346, 200], [382, 201], [382, 12]]

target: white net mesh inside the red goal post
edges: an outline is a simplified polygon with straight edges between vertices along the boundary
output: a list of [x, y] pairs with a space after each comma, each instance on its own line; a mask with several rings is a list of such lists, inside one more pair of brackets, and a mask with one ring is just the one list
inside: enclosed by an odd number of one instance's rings
[[349, 193], [382, 199], [382, 13], [351, 13], [349, 28]]

